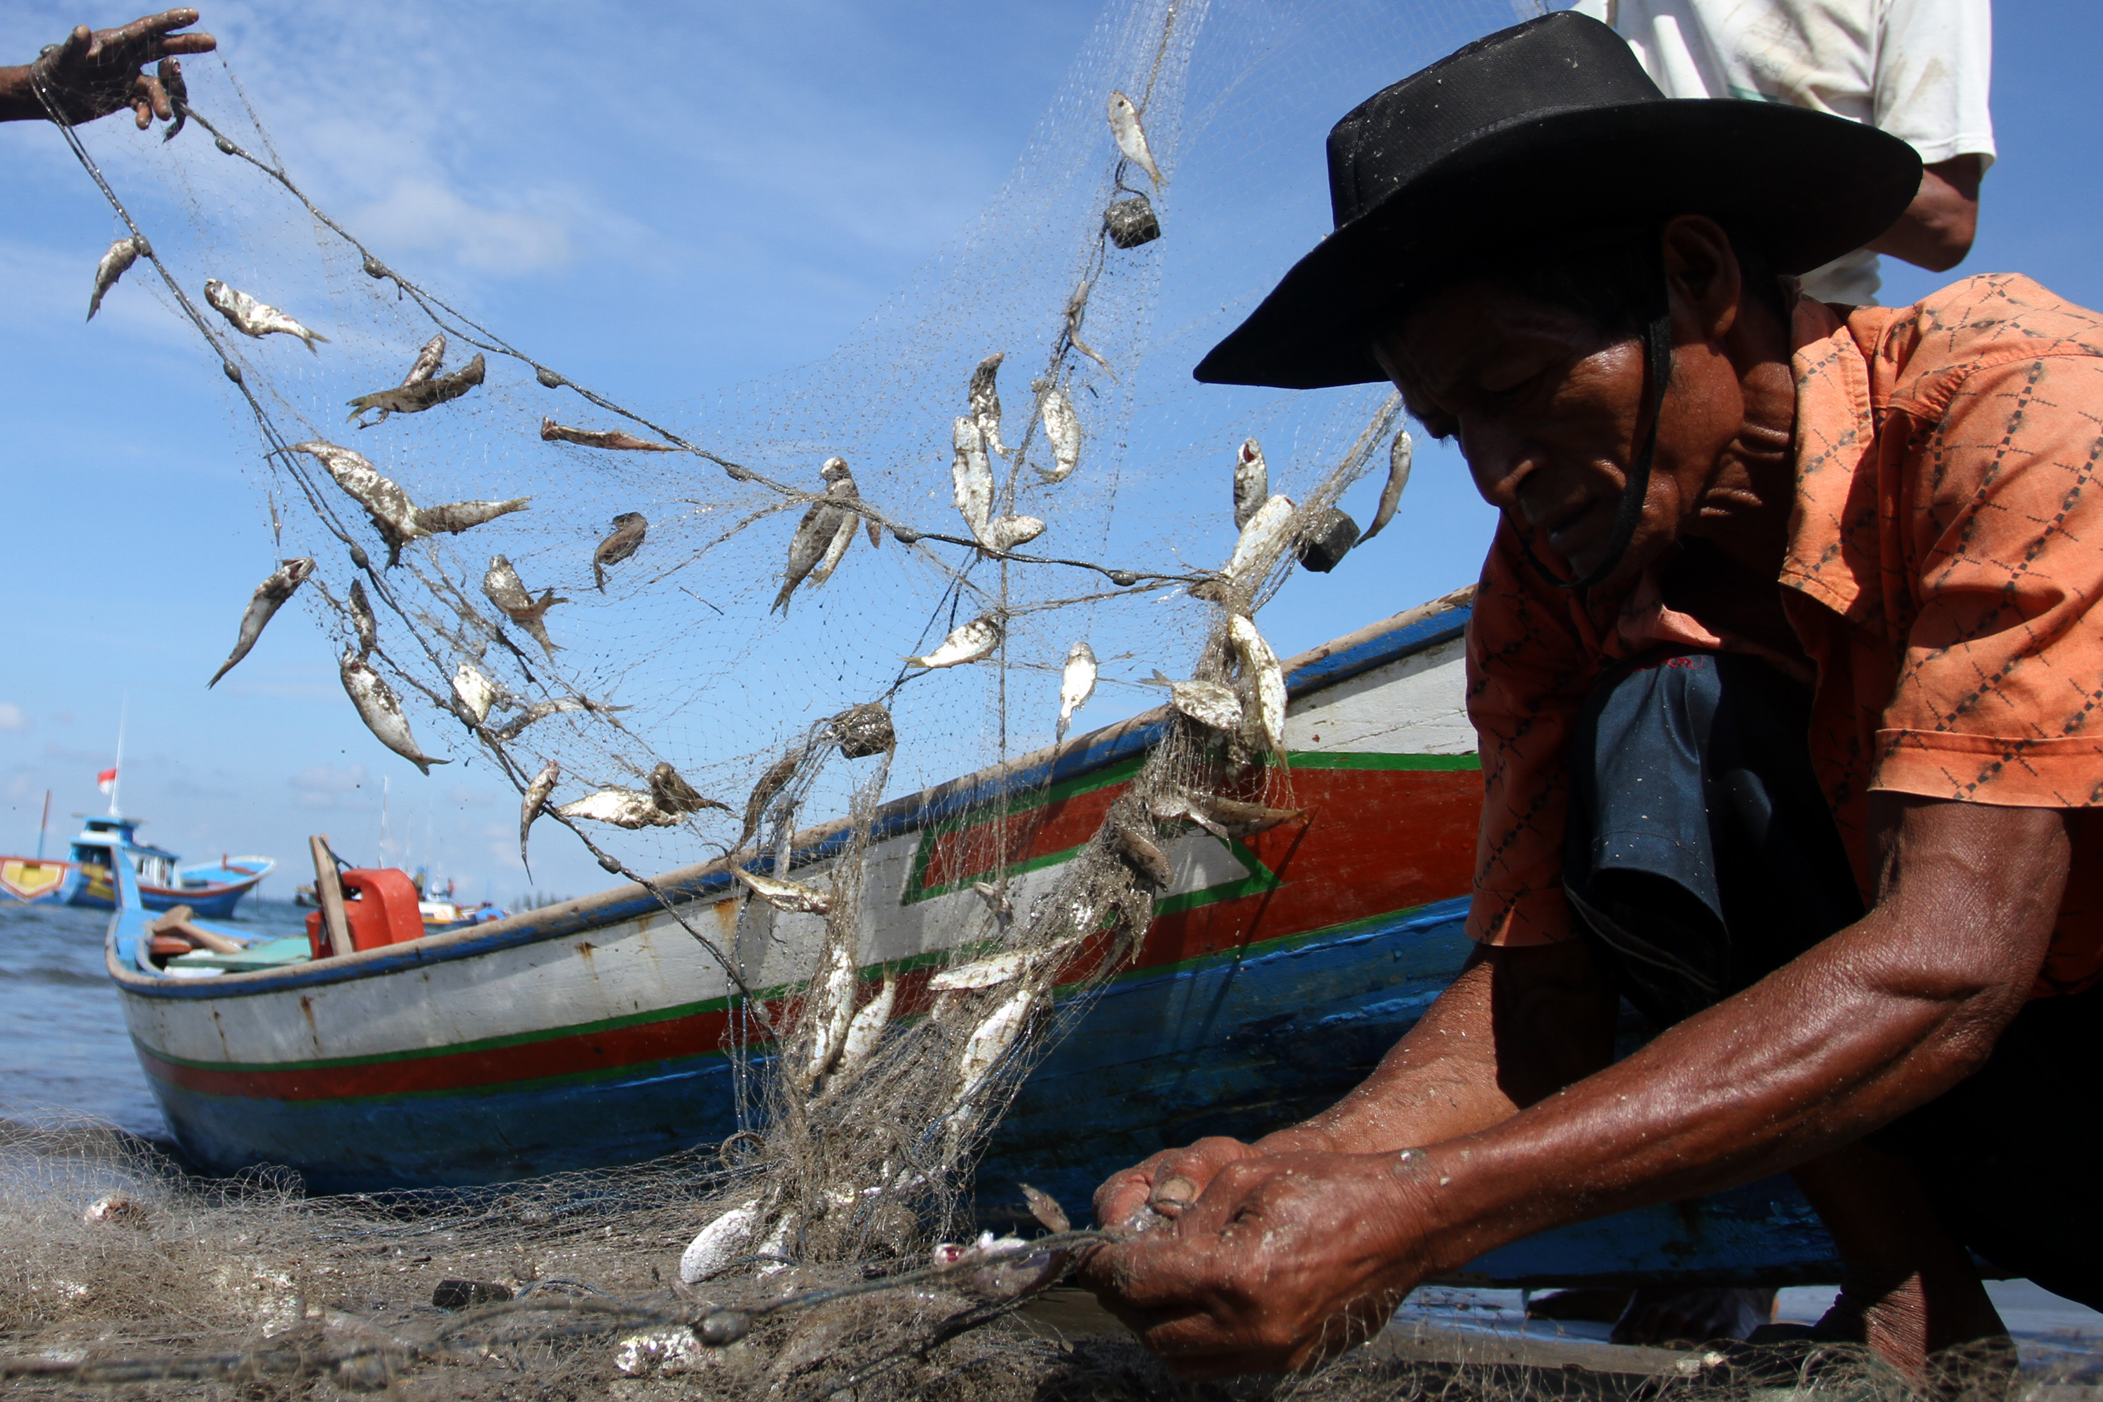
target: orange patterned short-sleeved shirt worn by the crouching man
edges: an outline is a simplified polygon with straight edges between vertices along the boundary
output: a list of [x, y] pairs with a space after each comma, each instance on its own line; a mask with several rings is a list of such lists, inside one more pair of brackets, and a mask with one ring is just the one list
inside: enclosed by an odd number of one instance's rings
[[[1783, 605], [1817, 666], [1811, 761], [1872, 895], [1870, 792], [2103, 805], [2103, 315], [2015, 275], [1914, 307], [1796, 309]], [[1468, 624], [1483, 830], [1468, 933], [1548, 944], [1569, 731], [1592, 681], [1661, 643], [1756, 652], [1651, 578], [1581, 605], [1497, 528]], [[2103, 818], [2078, 818], [2038, 994], [2103, 975]]]

